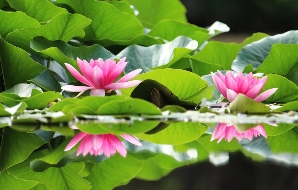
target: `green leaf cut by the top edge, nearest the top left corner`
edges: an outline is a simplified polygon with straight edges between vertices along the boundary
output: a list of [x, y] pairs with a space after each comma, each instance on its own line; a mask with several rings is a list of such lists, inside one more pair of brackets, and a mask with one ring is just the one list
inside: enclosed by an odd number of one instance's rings
[[20, 10], [39, 22], [47, 22], [60, 13], [67, 13], [66, 9], [56, 7], [47, 0], [7, 0], [10, 7]]

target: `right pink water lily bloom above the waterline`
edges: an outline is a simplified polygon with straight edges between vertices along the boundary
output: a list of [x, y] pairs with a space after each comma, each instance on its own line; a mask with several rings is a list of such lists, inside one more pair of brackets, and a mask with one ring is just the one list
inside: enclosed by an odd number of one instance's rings
[[228, 74], [225, 75], [219, 70], [217, 70], [217, 73], [218, 76], [211, 72], [214, 84], [229, 102], [232, 102], [239, 93], [261, 102], [269, 98], [277, 90], [277, 88], [268, 89], [258, 95], [267, 80], [267, 76], [257, 79], [250, 72], [244, 77], [243, 73], [239, 71], [235, 78], [231, 71], [228, 71]]

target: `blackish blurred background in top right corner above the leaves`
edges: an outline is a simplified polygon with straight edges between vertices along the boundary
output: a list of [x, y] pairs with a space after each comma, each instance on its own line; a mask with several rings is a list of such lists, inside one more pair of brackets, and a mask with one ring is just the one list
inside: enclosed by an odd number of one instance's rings
[[284, 33], [298, 30], [297, 0], [181, 0], [191, 24], [221, 21], [230, 33]]

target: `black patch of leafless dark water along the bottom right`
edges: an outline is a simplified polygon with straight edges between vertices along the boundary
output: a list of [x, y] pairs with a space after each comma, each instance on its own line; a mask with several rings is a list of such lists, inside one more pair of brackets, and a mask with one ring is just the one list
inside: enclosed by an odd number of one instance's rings
[[175, 169], [159, 181], [131, 180], [115, 190], [198, 190], [198, 189], [297, 189], [298, 167], [275, 162], [256, 162], [241, 152], [229, 153], [229, 163], [214, 166], [209, 161]]

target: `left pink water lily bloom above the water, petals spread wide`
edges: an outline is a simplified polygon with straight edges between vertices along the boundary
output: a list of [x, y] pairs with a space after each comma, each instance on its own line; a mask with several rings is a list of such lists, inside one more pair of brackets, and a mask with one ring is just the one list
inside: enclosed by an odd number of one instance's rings
[[112, 90], [115, 90], [118, 95], [122, 95], [119, 89], [136, 86], [142, 82], [139, 80], [129, 81], [138, 75], [142, 69], [131, 71], [114, 82], [127, 64], [125, 57], [122, 58], [118, 64], [116, 61], [110, 59], [105, 61], [103, 61], [102, 58], [97, 60], [91, 59], [90, 63], [88, 63], [86, 60], [82, 61], [77, 58], [77, 64], [83, 76], [72, 65], [65, 63], [65, 66], [78, 81], [87, 86], [66, 85], [61, 87], [61, 89], [69, 92], [80, 92], [77, 97], [89, 89], [91, 89], [91, 96], [105, 96], [105, 92], [109, 93]]

